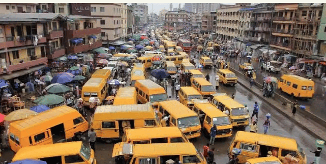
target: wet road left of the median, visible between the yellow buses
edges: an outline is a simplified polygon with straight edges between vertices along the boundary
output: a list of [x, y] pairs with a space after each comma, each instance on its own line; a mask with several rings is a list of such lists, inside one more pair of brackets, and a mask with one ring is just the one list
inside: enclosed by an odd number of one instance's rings
[[[203, 73], [206, 75], [207, 73], [211, 76], [211, 83], [215, 85], [215, 72], [216, 69], [203, 69]], [[174, 98], [174, 90], [171, 89], [171, 86], [168, 86], [168, 95], [172, 96]], [[219, 92], [224, 92], [227, 95], [231, 95], [232, 93], [235, 94], [235, 100], [242, 103], [247, 104], [249, 108], [250, 114], [253, 111], [254, 103], [257, 102], [260, 107], [260, 111], [258, 114], [258, 133], [263, 133], [263, 127], [262, 127], [262, 121], [265, 119], [266, 113], [271, 113], [271, 129], [269, 129], [268, 134], [270, 135], [277, 135], [277, 136], [283, 136], [288, 138], [294, 138], [297, 140], [299, 145], [305, 150], [307, 154], [307, 163], [310, 163], [313, 161], [314, 154], [310, 153], [309, 150], [315, 150], [315, 140], [316, 138], [312, 137], [310, 134], [305, 132], [304, 130], [298, 128], [296, 125], [293, 124], [293, 122], [289, 121], [285, 116], [278, 113], [276, 110], [274, 110], [271, 106], [263, 103], [258, 97], [251, 94], [249, 91], [247, 91], [244, 87], [241, 85], [235, 85], [235, 87], [230, 86], [220, 86]], [[234, 129], [233, 135], [238, 131], [239, 129]], [[249, 131], [249, 127], [245, 129], [245, 131]], [[215, 159], [217, 164], [224, 164], [228, 162], [228, 156], [227, 156], [227, 150], [229, 148], [230, 142], [232, 141], [232, 137], [225, 138], [225, 139], [216, 139], [215, 140]], [[199, 137], [198, 139], [191, 140], [191, 142], [202, 152], [203, 146], [209, 142], [208, 138], [205, 138], [204, 136]], [[286, 144], [286, 143], [284, 143]], [[97, 162], [99, 164], [104, 163], [114, 163], [114, 158], [112, 158], [112, 149], [114, 144], [106, 144], [97, 142], [96, 143], [96, 151], [95, 151], [95, 157], [97, 159]], [[14, 153], [11, 150], [4, 150], [2, 152], [2, 161], [3, 160], [10, 160]], [[323, 155], [324, 152], [322, 152], [321, 157], [321, 163], [325, 163], [326, 156]]]

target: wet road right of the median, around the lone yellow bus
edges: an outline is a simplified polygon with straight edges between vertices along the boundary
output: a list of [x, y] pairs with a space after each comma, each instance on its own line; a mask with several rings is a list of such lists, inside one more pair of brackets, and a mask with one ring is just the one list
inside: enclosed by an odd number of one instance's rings
[[[239, 64], [247, 62], [248, 60], [246, 58], [241, 58], [240, 60], [237, 60], [236, 58], [231, 58], [230, 65], [234, 69], [239, 69]], [[265, 70], [260, 71], [259, 62], [258, 61], [251, 61], [252, 65], [254, 66], [254, 69], [256, 70], [256, 81], [260, 84], [263, 83], [263, 78], [266, 76], [274, 76], [277, 78], [280, 78], [283, 75], [283, 72], [280, 72], [278, 74], [273, 72], [268, 72]], [[299, 105], [305, 105], [306, 110], [310, 111], [311, 113], [319, 116], [320, 118], [326, 120], [326, 110], [322, 108], [321, 106], [326, 106], [326, 99], [322, 96], [322, 85], [319, 83], [315, 83], [315, 95], [313, 99], [309, 100], [302, 100], [302, 99], [295, 99], [291, 98], [290, 95], [286, 93], [281, 93], [279, 90], [277, 90], [277, 93], [284, 96], [288, 100], [291, 100], [292, 102], [294, 100], [298, 100]]]

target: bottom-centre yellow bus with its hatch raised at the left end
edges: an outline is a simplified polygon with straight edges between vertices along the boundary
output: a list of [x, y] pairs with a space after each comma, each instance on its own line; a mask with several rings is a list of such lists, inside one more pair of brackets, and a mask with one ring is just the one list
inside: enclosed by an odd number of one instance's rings
[[206, 164], [202, 156], [192, 143], [156, 143], [137, 144], [120, 142], [114, 144], [112, 157], [117, 163], [126, 164], [159, 164], [180, 161], [181, 163]]

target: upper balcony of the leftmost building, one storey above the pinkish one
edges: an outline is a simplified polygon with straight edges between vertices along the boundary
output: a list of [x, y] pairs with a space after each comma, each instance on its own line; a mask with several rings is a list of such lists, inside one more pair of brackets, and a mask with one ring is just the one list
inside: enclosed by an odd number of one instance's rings
[[[0, 49], [33, 45], [32, 36], [7, 37], [7, 42], [0, 43]], [[38, 44], [46, 43], [46, 37], [38, 39]]]

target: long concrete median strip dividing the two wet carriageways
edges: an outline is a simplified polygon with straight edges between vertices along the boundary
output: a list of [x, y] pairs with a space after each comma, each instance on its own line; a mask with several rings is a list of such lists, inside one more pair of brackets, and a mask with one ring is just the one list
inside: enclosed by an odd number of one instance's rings
[[[244, 88], [249, 90], [255, 96], [259, 97], [264, 101], [264, 103], [269, 104], [270, 106], [274, 107], [278, 112], [283, 114], [285, 117], [293, 121], [297, 124], [300, 128], [304, 129], [305, 131], [309, 132], [312, 136], [316, 138], [320, 138], [322, 140], [326, 140], [326, 127], [319, 125], [314, 120], [311, 120], [304, 115], [301, 115], [300, 112], [297, 112], [295, 116], [292, 115], [291, 109], [284, 107], [278, 101], [272, 98], [266, 98], [262, 96], [262, 92], [257, 87], [253, 86], [249, 88], [249, 82], [241, 77], [238, 76], [238, 84], [242, 85]], [[301, 109], [298, 109], [301, 110]]]

